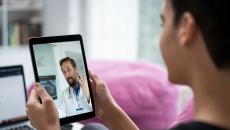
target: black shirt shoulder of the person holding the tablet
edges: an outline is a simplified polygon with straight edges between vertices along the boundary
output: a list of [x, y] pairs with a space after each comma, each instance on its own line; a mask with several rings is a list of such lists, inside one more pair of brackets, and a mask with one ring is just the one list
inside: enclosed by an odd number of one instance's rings
[[208, 123], [194, 121], [190, 123], [179, 124], [178, 126], [170, 130], [229, 130], [229, 129], [221, 128], [219, 126], [211, 125]]

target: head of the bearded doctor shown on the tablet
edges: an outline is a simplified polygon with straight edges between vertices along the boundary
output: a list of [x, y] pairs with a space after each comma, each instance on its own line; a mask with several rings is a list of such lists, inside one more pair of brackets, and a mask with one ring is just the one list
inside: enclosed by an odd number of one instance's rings
[[73, 59], [66, 57], [60, 60], [61, 70], [71, 87], [74, 87], [78, 82], [77, 78], [77, 66]]

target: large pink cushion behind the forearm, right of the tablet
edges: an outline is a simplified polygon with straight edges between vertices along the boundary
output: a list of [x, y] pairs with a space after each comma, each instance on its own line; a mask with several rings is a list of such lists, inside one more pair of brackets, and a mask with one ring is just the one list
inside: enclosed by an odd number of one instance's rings
[[89, 62], [89, 69], [106, 81], [114, 99], [140, 129], [168, 128], [176, 119], [179, 93], [161, 67], [98, 61]]

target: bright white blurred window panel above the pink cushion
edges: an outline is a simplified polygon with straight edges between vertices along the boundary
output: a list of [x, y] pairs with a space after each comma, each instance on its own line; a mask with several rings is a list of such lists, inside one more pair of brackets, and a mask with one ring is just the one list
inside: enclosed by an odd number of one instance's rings
[[138, 0], [85, 0], [83, 5], [88, 57], [136, 60]]

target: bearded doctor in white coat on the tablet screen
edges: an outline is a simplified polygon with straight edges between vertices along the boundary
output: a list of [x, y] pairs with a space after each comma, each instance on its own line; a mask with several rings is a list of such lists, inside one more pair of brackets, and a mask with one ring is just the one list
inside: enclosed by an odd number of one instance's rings
[[60, 60], [60, 67], [69, 84], [62, 91], [60, 117], [92, 111], [87, 80], [79, 74], [75, 61], [70, 57], [63, 58]]

